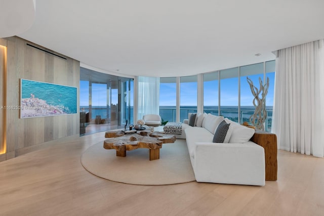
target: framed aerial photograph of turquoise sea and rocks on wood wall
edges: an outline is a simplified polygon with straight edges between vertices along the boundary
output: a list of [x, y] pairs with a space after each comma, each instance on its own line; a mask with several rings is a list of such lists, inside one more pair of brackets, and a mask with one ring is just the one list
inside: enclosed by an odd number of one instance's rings
[[77, 113], [77, 88], [20, 79], [20, 118]]

